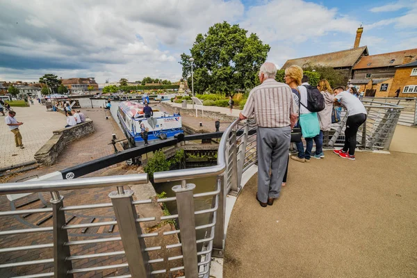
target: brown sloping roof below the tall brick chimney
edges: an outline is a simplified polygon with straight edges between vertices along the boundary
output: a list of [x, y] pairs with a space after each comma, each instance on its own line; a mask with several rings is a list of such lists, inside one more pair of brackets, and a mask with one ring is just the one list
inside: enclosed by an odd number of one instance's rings
[[316, 56], [287, 60], [286, 63], [281, 67], [281, 70], [285, 70], [291, 65], [299, 65], [300, 67], [303, 67], [308, 63], [311, 65], [322, 65], [325, 67], [352, 67], [354, 63], [357, 63], [357, 60], [361, 57], [362, 54], [368, 55], [368, 48], [366, 46], [320, 54]]

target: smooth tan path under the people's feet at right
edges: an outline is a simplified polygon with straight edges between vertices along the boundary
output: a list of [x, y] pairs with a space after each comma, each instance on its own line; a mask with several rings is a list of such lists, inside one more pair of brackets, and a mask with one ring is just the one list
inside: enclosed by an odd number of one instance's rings
[[417, 133], [405, 128], [400, 152], [290, 161], [267, 208], [252, 177], [231, 214], [224, 277], [416, 277]]

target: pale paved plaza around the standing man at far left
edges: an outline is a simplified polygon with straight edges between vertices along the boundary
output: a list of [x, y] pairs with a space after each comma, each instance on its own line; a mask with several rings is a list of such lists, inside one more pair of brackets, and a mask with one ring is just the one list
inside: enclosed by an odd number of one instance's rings
[[67, 120], [61, 113], [47, 111], [45, 106], [13, 107], [16, 119], [24, 122], [19, 127], [24, 149], [15, 147], [15, 136], [10, 132], [5, 117], [0, 116], [0, 167], [33, 161], [38, 149], [51, 138], [52, 131], [62, 129]]

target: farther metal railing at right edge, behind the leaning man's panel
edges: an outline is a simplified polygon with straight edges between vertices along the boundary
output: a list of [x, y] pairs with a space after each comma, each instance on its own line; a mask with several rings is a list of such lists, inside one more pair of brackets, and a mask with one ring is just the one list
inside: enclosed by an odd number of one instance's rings
[[401, 111], [399, 124], [417, 125], [417, 97], [362, 97], [363, 101], [375, 101], [384, 104], [395, 104], [404, 107]]

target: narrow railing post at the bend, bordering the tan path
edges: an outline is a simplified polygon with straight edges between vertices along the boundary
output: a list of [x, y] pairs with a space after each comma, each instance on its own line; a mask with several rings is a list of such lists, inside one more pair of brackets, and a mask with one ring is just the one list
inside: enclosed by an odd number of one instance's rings
[[224, 218], [226, 213], [226, 196], [224, 176], [218, 176], [220, 186], [218, 210], [215, 215], [215, 228], [213, 238], [213, 251], [211, 256], [222, 258], [224, 256]]

